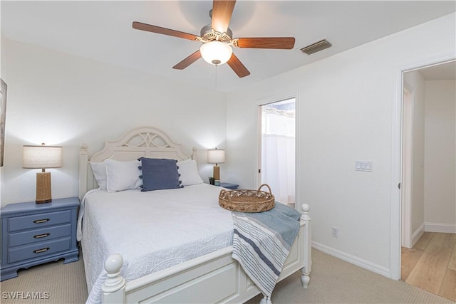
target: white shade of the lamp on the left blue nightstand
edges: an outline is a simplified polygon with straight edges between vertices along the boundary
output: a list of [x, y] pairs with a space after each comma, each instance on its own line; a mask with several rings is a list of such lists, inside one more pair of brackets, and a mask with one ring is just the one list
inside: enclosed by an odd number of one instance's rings
[[62, 147], [24, 146], [22, 167], [31, 169], [62, 167]]

